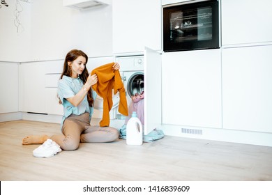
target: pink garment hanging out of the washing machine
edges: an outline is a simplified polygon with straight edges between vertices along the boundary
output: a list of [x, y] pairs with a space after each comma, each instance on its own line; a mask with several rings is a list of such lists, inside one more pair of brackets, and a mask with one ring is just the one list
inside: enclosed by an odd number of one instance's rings
[[125, 124], [128, 123], [128, 120], [131, 118], [133, 111], [136, 111], [137, 117], [141, 121], [142, 125], [144, 125], [144, 99], [138, 98], [137, 102], [130, 102], [128, 107], [128, 116], [126, 117]]

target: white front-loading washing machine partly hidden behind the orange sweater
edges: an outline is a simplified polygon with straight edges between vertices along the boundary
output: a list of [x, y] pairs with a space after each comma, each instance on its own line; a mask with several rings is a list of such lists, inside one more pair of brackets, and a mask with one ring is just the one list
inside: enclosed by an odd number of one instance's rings
[[[144, 56], [119, 56], [115, 61], [120, 65], [119, 72], [129, 106], [131, 97], [144, 91]], [[116, 112], [116, 118], [125, 119], [126, 116]]]

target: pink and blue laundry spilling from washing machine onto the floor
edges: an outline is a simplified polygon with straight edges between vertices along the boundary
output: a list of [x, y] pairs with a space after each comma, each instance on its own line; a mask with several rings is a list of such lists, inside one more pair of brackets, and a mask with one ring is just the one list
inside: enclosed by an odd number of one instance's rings
[[[137, 117], [142, 123], [142, 129], [144, 130], [144, 91], [140, 94], [135, 94], [131, 97], [131, 102], [128, 107], [128, 116], [126, 117], [125, 124], [119, 130], [119, 138], [126, 139], [126, 125], [131, 118], [133, 111], [136, 111]], [[143, 132], [144, 133], [144, 132]], [[143, 134], [144, 142], [152, 142], [158, 139], [162, 139], [165, 136], [162, 130], [153, 130], [149, 134]]]

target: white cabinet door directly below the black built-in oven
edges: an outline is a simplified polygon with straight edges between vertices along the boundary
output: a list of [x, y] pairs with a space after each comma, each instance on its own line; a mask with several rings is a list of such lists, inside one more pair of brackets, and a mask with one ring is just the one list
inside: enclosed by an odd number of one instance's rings
[[222, 128], [221, 52], [163, 54], [163, 124]]

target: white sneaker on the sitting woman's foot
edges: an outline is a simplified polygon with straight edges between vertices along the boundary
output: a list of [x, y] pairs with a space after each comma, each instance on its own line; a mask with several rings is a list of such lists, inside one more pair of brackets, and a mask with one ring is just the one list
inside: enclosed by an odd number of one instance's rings
[[33, 150], [34, 157], [52, 157], [56, 153], [61, 152], [61, 146], [54, 142], [52, 139], [47, 139], [43, 145]]

